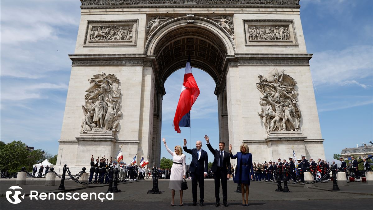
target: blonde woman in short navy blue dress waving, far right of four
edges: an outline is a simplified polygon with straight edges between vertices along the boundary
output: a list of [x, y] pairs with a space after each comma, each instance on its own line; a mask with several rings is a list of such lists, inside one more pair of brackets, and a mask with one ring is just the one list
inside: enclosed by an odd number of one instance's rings
[[[248, 197], [250, 174], [253, 172], [253, 156], [249, 153], [249, 146], [245, 143], [239, 146], [239, 150], [241, 152], [237, 152], [237, 154], [233, 155], [232, 145], [229, 145], [229, 156], [231, 156], [232, 159], [237, 158], [237, 169], [233, 182], [241, 184], [242, 206], [249, 206]], [[251, 175], [251, 178], [253, 178], [253, 175]]]

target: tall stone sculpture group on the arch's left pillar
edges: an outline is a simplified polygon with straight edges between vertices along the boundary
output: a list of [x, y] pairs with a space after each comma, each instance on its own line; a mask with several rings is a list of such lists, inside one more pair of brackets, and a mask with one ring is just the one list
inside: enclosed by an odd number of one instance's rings
[[84, 118], [81, 133], [93, 129], [118, 131], [120, 110], [119, 80], [114, 74], [96, 74], [89, 79], [91, 85], [85, 91], [85, 105], [82, 105]]

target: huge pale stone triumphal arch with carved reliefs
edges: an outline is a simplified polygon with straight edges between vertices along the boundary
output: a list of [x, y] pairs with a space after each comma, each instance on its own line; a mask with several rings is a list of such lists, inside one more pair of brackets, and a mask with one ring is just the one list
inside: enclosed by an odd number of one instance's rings
[[219, 139], [253, 161], [325, 158], [298, 0], [81, 0], [57, 163], [72, 171], [122, 148], [160, 161], [167, 77], [216, 83]]

